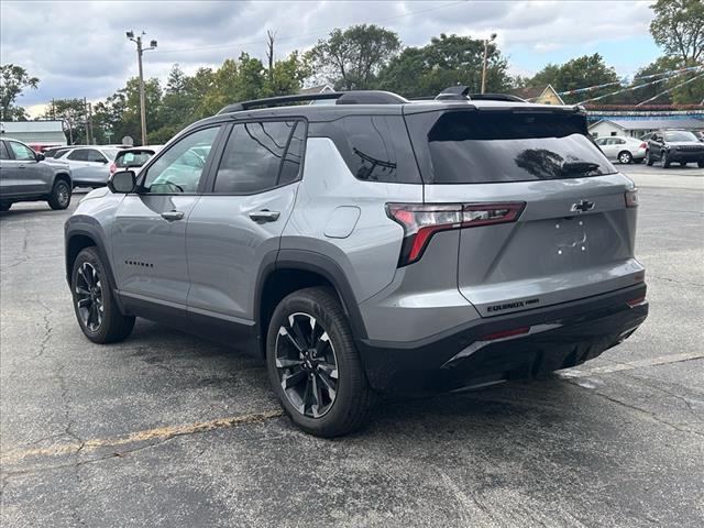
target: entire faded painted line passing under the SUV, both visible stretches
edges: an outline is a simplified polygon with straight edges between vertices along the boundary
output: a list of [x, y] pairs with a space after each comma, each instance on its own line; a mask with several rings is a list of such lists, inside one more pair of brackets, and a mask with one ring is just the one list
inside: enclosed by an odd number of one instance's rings
[[[613, 365], [597, 366], [588, 370], [570, 369], [558, 374], [559, 377], [572, 380], [576, 377], [586, 377], [597, 374], [609, 374], [614, 372], [630, 371], [634, 369], [642, 369], [648, 366], [666, 365], [669, 363], [680, 363], [683, 361], [692, 361], [704, 359], [704, 352], [692, 352], [683, 354], [661, 355], [649, 360], [631, 361], [627, 363], [615, 363]], [[283, 416], [282, 410], [271, 409], [262, 413], [251, 413], [249, 415], [233, 416], [230, 418], [219, 418], [210, 421], [198, 421], [194, 424], [185, 424], [180, 426], [165, 426], [155, 429], [146, 429], [143, 431], [132, 432], [122, 437], [113, 438], [96, 438], [84, 442], [59, 443], [48, 446], [46, 448], [35, 449], [15, 449], [2, 453], [0, 455], [0, 464], [14, 464], [28, 458], [35, 457], [57, 457], [62, 454], [75, 454], [96, 451], [101, 448], [111, 448], [117, 446], [127, 446], [131, 443], [145, 442], [147, 440], [167, 440], [169, 438], [193, 435], [198, 432], [207, 432], [216, 429], [227, 429], [244, 424], [256, 424]]]

